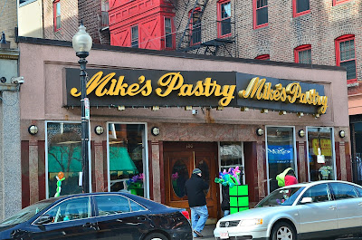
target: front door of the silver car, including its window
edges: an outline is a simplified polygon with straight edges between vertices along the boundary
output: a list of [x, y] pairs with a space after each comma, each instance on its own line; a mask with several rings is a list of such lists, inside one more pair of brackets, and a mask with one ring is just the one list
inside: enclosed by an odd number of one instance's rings
[[300, 234], [308, 234], [311, 237], [322, 232], [328, 234], [338, 230], [337, 206], [331, 198], [328, 184], [308, 188], [300, 200], [303, 197], [311, 197], [312, 202], [299, 203]]

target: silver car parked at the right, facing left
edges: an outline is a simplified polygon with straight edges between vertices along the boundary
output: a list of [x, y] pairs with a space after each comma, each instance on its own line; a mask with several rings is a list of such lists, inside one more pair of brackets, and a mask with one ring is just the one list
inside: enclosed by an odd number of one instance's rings
[[329, 180], [281, 187], [254, 208], [221, 218], [214, 229], [214, 237], [335, 239], [360, 235], [361, 226], [362, 187]]

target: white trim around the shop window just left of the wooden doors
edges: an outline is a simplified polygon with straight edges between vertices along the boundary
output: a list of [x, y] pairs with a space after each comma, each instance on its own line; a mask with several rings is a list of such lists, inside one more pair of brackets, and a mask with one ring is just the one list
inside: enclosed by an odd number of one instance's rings
[[[142, 161], [143, 161], [143, 176], [146, 180], [144, 182], [143, 194], [146, 198], [149, 198], [149, 171], [148, 171], [148, 124], [147, 122], [122, 122], [122, 121], [107, 121], [107, 189], [110, 192], [110, 124], [142, 124], [145, 126], [144, 136], [142, 136], [143, 148], [142, 148]], [[162, 169], [161, 169], [162, 170]]]

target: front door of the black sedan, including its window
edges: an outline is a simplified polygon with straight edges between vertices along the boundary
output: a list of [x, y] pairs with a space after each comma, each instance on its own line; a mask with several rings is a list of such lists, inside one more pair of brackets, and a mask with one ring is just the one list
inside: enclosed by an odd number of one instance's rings
[[95, 239], [97, 222], [91, 217], [90, 197], [71, 197], [52, 206], [43, 215], [52, 223], [31, 227], [32, 239]]

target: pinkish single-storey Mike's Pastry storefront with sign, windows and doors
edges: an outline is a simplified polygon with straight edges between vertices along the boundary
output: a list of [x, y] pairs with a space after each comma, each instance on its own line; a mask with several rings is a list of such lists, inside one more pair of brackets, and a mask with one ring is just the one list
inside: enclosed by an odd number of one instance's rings
[[[62, 194], [81, 192], [80, 82], [71, 43], [20, 38], [19, 48], [27, 206], [54, 195], [60, 171]], [[351, 180], [341, 68], [110, 46], [93, 46], [87, 61], [91, 191], [187, 207], [183, 186], [201, 168], [216, 219], [224, 168], [241, 168], [250, 206], [285, 168], [300, 182]]]

